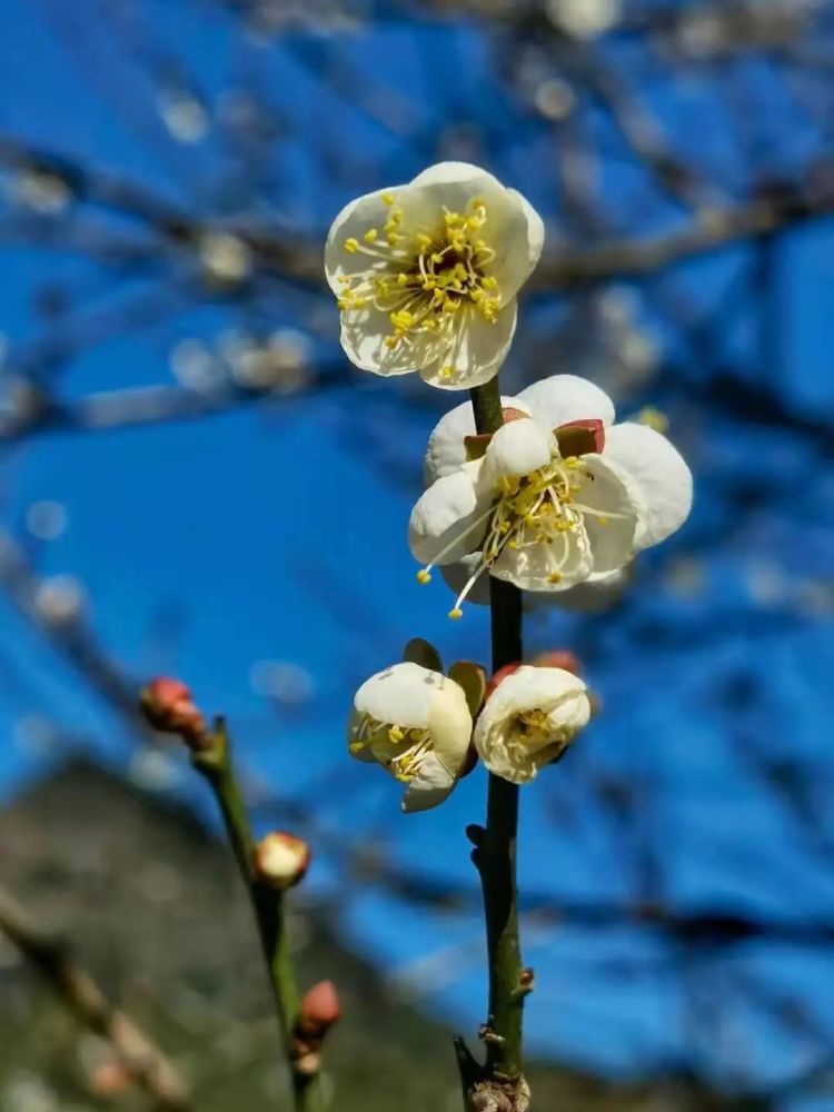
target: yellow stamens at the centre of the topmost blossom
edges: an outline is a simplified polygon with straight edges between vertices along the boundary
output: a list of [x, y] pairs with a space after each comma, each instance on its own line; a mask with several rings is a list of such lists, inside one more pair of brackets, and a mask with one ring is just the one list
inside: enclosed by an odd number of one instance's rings
[[408, 347], [416, 336], [428, 339], [434, 348], [430, 360], [451, 377], [467, 311], [495, 322], [500, 308], [498, 282], [487, 274], [495, 251], [481, 235], [487, 207], [476, 197], [464, 212], [444, 208], [434, 227], [423, 222], [409, 227], [393, 195], [383, 200], [390, 211], [381, 229], [369, 228], [361, 242], [354, 237], [345, 240], [348, 254], [371, 261], [367, 270], [339, 278], [344, 287], [339, 308], [346, 312], [374, 305], [388, 315], [389, 349]]

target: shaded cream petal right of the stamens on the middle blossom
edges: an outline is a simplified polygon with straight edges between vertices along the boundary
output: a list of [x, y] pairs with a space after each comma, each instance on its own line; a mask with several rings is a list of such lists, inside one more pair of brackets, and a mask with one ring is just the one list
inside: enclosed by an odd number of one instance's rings
[[[634, 558], [634, 538], [642, 510], [632, 484], [608, 466], [607, 457], [589, 454], [582, 457], [577, 507], [596, 513], [584, 515], [585, 532], [594, 557], [593, 576], [608, 575]], [[603, 524], [605, 523], [605, 524]]]

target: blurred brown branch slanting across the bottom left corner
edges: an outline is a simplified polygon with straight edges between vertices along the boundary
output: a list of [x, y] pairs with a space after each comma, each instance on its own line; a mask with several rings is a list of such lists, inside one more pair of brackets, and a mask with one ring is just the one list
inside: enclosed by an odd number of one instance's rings
[[39, 970], [78, 1021], [106, 1039], [131, 1082], [139, 1085], [162, 1112], [186, 1112], [193, 1106], [178, 1071], [150, 1039], [103, 995], [68, 946], [43, 931], [0, 888], [0, 931]]

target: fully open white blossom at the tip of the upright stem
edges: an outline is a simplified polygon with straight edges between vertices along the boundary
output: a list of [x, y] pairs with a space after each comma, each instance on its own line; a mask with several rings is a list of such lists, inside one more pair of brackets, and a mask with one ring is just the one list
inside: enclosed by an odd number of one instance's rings
[[467, 162], [351, 201], [325, 248], [348, 358], [376, 375], [419, 371], [444, 389], [488, 381], [543, 244], [525, 198]]

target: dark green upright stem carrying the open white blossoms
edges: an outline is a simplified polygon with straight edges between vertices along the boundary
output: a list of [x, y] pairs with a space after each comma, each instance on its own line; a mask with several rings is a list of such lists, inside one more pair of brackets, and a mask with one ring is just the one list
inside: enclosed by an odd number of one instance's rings
[[[471, 391], [478, 433], [495, 433], [504, 424], [497, 377]], [[522, 593], [510, 583], [490, 578], [489, 602], [493, 671], [522, 659]], [[484, 890], [489, 962], [487, 1070], [494, 1076], [517, 1078], [523, 1071], [522, 954], [518, 941], [516, 836], [518, 788], [489, 776], [486, 833], [476, 852]]]

